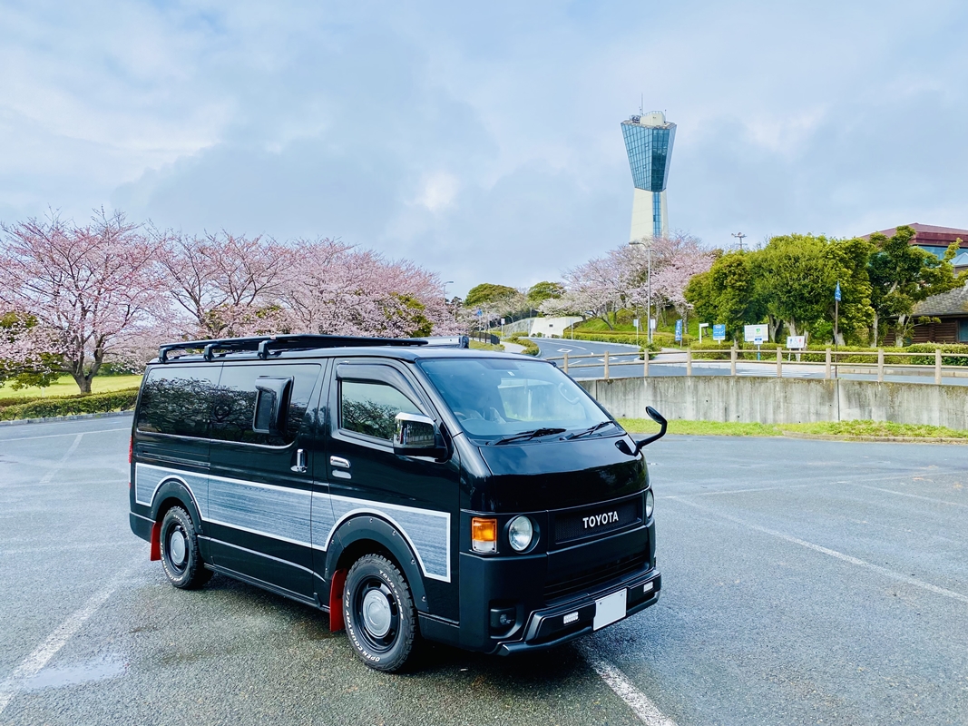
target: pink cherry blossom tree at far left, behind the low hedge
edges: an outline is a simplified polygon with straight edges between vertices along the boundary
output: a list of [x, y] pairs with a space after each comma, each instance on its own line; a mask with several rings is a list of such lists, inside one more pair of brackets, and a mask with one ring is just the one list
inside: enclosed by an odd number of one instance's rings
[[0, 306], [34, 321], [6, 345], [50, 354], [90, 393], [105, 356], [164, 318], [158, 242], [104, 210], [84, 227], [51, 216], [2, 230]]

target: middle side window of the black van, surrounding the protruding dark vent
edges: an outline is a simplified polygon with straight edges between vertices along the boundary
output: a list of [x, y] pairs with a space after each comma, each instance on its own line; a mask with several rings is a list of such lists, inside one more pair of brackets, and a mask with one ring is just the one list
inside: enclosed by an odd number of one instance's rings
[[[253, 430], [256, 415], [258, 378], [292, 378], [286, 386], [283, 401], [282, 434], [274, 436]], [[212, 439], [286, 446], [295, 440], [302, 426], [310, 398], [319, 377], [317, 364], [299, 365], [226, 365], [212, 406]]]

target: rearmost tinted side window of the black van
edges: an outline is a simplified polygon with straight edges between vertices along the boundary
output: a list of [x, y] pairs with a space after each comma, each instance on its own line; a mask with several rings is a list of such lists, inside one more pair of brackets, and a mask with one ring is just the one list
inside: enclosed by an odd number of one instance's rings
[[137, 430], [207, 438], [218, 375], [217, 366], [151, 369], [141, 387]]

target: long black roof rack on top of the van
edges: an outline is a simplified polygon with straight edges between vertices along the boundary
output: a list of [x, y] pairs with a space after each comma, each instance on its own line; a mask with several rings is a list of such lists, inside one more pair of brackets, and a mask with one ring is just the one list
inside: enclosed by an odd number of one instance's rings
[[[220, 340], [166, 343], [158, 349], [153, 364], [175, 362], [216, 362], [226, 360], [319, 358], [332, 355], [371, 354], [389, 355], [403, 360], [426, 357], [467, 355], [467, 336], [438, 338], [364, 338], [336, 335], [276, 335], [252, 338], [224, 338]], [[200, 350], [200, 353], [190, 351]], [[181, 351], [180, 355], [170, 353]], [[501, 355], [497, 351], [476, 350], [486, 355]], [[513, 353], [507, 353], [512, 355]]]

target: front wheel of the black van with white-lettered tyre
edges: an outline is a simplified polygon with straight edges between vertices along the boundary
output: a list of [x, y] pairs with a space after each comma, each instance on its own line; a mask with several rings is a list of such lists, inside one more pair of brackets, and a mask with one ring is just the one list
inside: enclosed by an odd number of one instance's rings
[[360, 659], [378, 671], [404, 667], [416, 638], [416, 610], [407, 578], [379, 555], [366, 555], [349, 568], [343, 590], [347, 637]]

